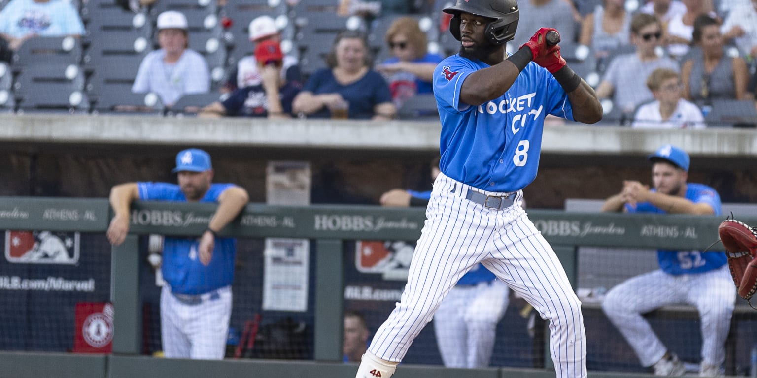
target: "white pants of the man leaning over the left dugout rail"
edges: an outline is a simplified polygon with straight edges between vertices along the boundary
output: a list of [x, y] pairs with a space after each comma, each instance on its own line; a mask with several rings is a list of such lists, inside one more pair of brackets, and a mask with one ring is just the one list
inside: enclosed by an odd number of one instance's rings
[[160, 291], [160, 336], [167, 358], [221, 360], [226, 354], [232, 289], [202, 294], [201, 300], [188, 305], [176, 299], [168, 285]]

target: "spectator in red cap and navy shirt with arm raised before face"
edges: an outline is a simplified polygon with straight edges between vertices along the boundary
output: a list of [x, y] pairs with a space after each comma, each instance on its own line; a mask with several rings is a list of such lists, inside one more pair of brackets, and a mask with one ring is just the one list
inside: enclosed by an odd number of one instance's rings
[[284, 54], [279, 43], [273, 40], [260, 42], [255, 48], [255, 61], [262, 76], [260, 84], [236, 89], [223, 102], [204, 107], [198, 116], [291, 117], [291, 101], [300, 93], [301, 84], [282, 78]]

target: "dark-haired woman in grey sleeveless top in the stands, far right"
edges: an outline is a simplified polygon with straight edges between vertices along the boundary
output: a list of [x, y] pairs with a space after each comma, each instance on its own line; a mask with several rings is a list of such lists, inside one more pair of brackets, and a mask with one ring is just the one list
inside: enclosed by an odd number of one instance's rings
[[718, 21], [707, 14], [696, 17], [693, 43], [701, 51], [681, 65], [684, 98], [699, 106], [716, 99], [746, 100], [746, 61], [725, 54]]

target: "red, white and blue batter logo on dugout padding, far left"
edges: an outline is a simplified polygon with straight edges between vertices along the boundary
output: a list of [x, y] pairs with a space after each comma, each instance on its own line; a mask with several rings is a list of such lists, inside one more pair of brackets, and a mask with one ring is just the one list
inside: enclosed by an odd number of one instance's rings
[[79, 262], [79, 233], [5, 231], [5, 259], [20, 264]]

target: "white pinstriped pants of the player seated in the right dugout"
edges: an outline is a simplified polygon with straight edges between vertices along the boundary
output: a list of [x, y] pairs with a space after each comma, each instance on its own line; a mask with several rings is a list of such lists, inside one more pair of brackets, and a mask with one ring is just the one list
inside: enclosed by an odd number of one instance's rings
[[641, 314], [664, 305], [695, 305], [702, 320], [702, 363], [720, 366], [725, 361], [725, 339], [735, 302], [734, 280], [728, 265], [723, 265], [699, 274], [674, 276], [658, 269], [631, 277], [607, 293], [602, 309], [641, 365], [649, 367], [668, 349]]

